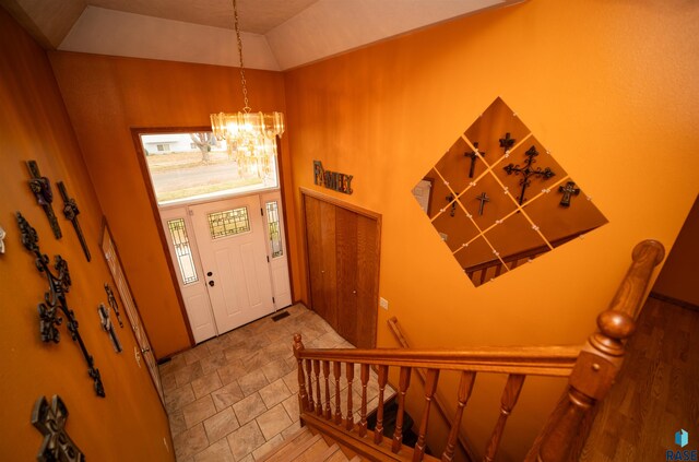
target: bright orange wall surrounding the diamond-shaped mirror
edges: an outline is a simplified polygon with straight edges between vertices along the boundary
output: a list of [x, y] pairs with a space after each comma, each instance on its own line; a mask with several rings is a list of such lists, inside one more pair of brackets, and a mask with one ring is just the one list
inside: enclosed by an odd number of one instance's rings
[[[391, 316], [418, 347], [582, 343], [632, 247], [670, 248], [699, 191], [697, 46], [690, 2], [531, 0], [287, 72], [295, 186], [322, 190], [319, 159], [354, 175], [352, 196], [324, 193], [382, 214], [378, 344], [395, 345]], [[609, 223], [474, 288], [411, 190], [497, 96]], [[493, 383], [467, 411], [476, 441], [497, 418]], [[560, 387], [524, 386], [501, 460], [521, 460]]]

